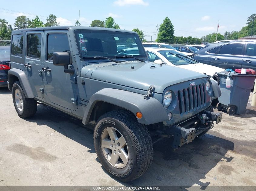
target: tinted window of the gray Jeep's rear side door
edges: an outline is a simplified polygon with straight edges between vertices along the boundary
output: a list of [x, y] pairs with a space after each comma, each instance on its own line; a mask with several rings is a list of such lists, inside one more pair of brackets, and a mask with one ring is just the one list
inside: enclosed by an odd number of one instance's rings
[[27, 56], [41, 59], [41, 34], [28, 34]]

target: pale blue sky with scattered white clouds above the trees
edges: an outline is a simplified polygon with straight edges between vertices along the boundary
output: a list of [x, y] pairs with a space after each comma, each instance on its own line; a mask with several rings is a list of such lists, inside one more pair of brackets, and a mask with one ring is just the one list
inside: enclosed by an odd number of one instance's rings
[[60, 25], [74, 26], [80, 10], [81, 26], [111, 16], [121, 29], [139, 28], [146, 40], [150, 41], [152, 36], [153, 41], [157, 38], [157, 25], [165, 17], [171, 19], [175, 36], [200, 38], [216, 32], [218, 20], [221, 34], [240, 30], [247, 18], [256, 13], [255, 7], [255, 0], [12, 0], [1, 1], [0, 18], [13, 25], [17, 16], [25, 15], [32, 20], [38, 15], [45, 23], [47, 16], [54, 14]]

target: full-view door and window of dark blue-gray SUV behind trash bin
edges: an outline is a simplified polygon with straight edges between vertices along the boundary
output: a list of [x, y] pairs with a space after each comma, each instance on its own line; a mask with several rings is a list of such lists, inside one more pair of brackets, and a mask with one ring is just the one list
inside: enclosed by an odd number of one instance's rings
[[244, 52], [244, 43], [223, 45], [212, 57], [211, 65], [223, 69], [233, 70], [241, 68]]

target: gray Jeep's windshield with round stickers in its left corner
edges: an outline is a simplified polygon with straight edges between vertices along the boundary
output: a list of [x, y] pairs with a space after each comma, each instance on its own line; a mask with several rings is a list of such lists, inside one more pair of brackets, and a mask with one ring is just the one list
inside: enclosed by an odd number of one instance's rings
[[122, 60], [147, 58], [135, 33], [111, 30], [75, 30], [74, 33], [80, 57], [84, 60], [94, 60], [95, 56]]

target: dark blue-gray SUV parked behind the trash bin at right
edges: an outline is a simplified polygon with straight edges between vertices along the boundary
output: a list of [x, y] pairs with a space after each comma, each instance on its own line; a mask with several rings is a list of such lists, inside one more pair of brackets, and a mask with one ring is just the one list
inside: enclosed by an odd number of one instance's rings
[[256, 42], [212, 43], [194, 53], [193, 58], [201, 63], [223, 69], [256, 69]]

